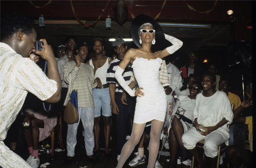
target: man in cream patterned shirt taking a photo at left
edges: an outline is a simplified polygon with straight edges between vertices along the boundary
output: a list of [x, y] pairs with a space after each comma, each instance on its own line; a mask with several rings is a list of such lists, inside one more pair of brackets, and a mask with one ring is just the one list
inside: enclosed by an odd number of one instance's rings
[[[20, 112], [27, 92], [40, 100], [56, 103], [61, 97], [61, 79], [47, 41], [40, 39], [43, 49], [34, 50], [37, 34], [32, 19], [12, 13], [0, 21], [0, 166], [27, 168], [29, 164], [8, 149], [3, 140]], [[47, 60], [48, 77], [28, 58], [32, 52]]]

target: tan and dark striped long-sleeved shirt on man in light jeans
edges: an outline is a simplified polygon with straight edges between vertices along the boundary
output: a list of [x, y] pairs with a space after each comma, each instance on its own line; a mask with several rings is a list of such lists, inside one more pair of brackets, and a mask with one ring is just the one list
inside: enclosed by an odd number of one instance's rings
[[[94, 70], [93, 67], [87, 63], [81, 63], [79, 68], [76, 65], [75, 61], [68, 61], [64, 64], [63, 67], [63, 75], [64, 80], [69, 83], [69, 77], [71, 79], [71, 83], [68, 85], [69, 89], [72, 91], [77, 89], [77, 98], [78, 98], [78, 106], [79, 107], [93, 107], [94, 108], [94, 100], [93, 100], [93, 89], [98, 84], [94, 82]], [[71, 87], [71, 88], [70, 88]], [[69, 92], [67, 92], [67, 96], [64, 102], [64, 106], [67, 105], [69, 100]]]

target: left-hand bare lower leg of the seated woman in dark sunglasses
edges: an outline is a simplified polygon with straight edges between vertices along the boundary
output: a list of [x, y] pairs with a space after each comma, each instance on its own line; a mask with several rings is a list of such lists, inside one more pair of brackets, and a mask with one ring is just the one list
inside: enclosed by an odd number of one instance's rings
[[170, 168], [177, 167], [177, 153], [178, 153], [178, 143], [173, 131], [173, 128], [169, 131], [169, 146], [170, 146]]

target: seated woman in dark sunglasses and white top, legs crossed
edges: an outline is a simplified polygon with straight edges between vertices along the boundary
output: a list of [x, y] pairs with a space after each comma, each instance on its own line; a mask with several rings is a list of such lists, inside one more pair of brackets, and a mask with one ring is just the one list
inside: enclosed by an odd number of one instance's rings
[[[187, 150], [182, 143], [182, 134], [192, 127], [195, 97], [201, 92], [201, 85], [194, 82], [189, 86], [189, 96], [180, 95], [175, 102], [174, 113], [169, 117], [169, 146], [170, 146], [170, 168], [177, 166], [177, 153], [180, 149], [182, 162], [187, 165]], [[185, 162], [184, 162], [185, 161]], [[189, 165], [189, 164], [188, 164]], [[187, 165], [187, 166], [188, 166]]]

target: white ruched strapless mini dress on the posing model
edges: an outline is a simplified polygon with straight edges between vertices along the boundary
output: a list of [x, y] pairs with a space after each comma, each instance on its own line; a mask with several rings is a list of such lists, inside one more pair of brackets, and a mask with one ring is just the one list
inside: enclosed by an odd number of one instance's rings
[[159, 79], [162, 59], [136, 58], [132, 68], [136, 81], [145, 95], [136, 98], [134, 123], [142, 124], [152, 120], [164, 122], [167, 100]]

